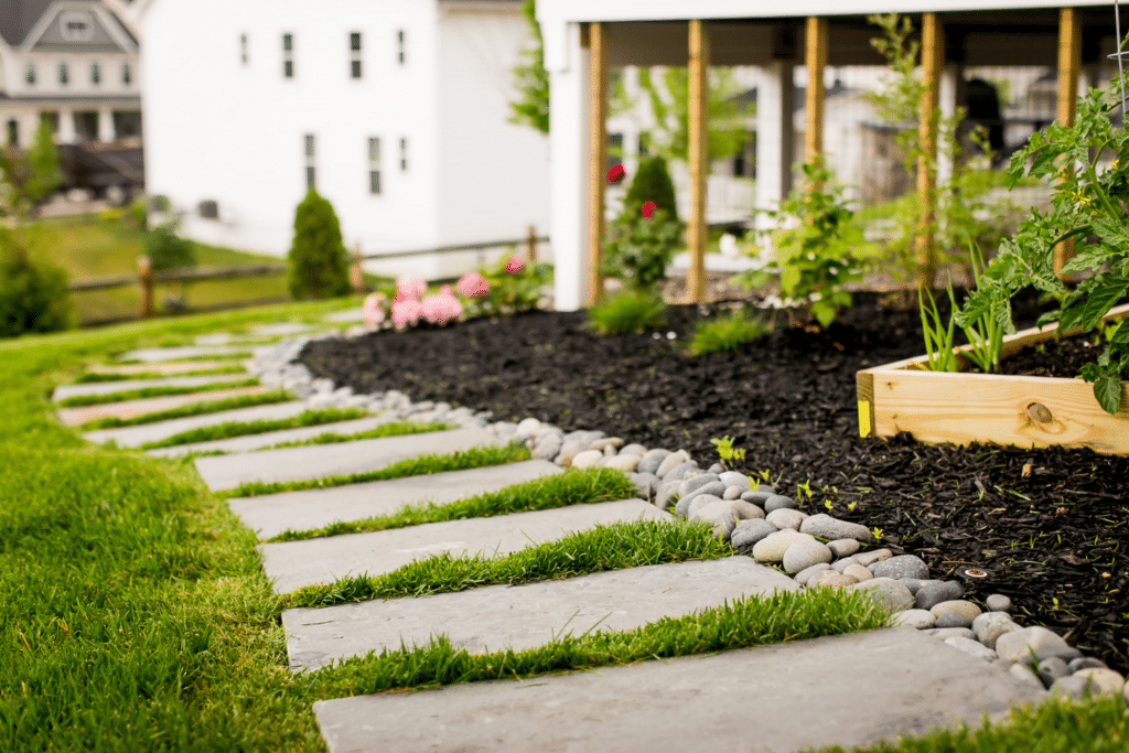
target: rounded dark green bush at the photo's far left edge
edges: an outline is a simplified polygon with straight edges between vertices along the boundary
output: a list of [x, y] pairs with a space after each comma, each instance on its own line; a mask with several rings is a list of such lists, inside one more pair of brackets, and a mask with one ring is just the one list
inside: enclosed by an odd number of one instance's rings
[[0, 336], [75, 325], [67, 272], [32, 259], [24, 231], [0, 228]]

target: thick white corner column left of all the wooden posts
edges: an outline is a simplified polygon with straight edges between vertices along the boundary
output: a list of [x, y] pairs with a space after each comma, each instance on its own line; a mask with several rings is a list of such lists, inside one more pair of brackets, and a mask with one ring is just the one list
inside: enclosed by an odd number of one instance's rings
[[[588, 51], [580, 27], [569, 24], [559, 64], [546, 55], [549, 86], [550, 237], [554, 305], [584, 306], [588, 277]], [[553, 61], [558, 62], [558, 61]]]

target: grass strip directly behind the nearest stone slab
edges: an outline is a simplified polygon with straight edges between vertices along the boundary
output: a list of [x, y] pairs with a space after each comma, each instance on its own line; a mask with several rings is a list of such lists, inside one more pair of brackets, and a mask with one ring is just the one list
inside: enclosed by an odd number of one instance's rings
[[401, 646], [338, 659], [310, 672], [308, 682], [312, 694], [331, 699], [404, 688], [527, 680], [546, 673], [840, 636], [882, 628], [886, 622], [886, 613], [861, 592], [773, 592], [662, 618], [632, 630], [561, 636], [517, 651], [470, 654], [438, 636], [427, 646]]

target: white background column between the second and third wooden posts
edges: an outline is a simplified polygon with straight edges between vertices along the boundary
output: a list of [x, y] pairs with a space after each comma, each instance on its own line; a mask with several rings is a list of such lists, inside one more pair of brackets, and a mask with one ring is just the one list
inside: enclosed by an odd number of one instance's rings
[[[756, 208], [776, 209], [791, 191], [796, 86], [791, 63], [771, 63], [760, 69], [756, 89]], [[770, 222], [756, 216], [756, 227]]]

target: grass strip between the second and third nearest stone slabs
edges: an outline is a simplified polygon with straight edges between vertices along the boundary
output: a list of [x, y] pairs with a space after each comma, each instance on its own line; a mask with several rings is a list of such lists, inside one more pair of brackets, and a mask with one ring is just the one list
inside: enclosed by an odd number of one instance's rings
[[733, 549], [706, 523], [620, 520], [491, 558], [441, 552], [379, 576], [349, 576], [282, 597], [287, 607], [332, 606], [374, 598], [449, 594], [481, 586], [561, 580], [648, 564], [717, 560]]

